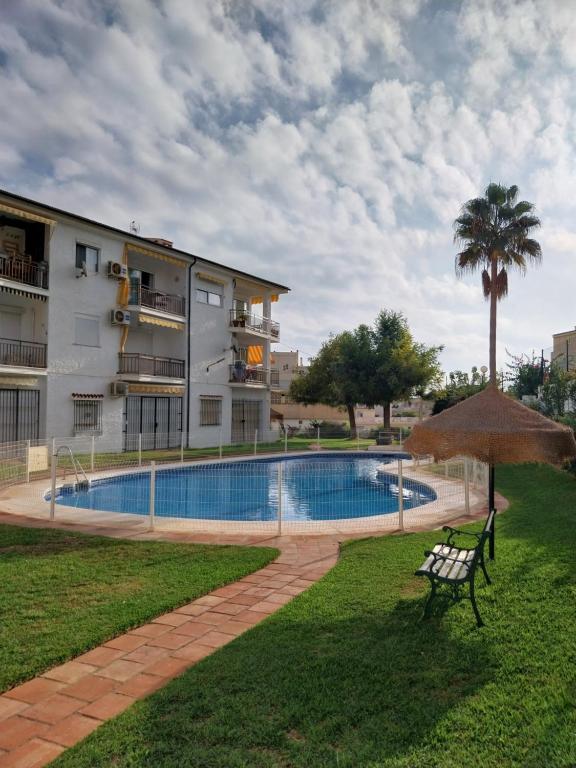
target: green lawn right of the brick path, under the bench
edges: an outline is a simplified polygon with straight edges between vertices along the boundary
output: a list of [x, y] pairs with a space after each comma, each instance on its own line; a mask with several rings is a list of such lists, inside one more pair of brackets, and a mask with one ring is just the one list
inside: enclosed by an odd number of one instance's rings
[[576, 764], [576, 481], [498, 471], [494, 583], [421, 621], [439, 534], [343, 547], [322, 581], [137, 702], [59, 768], [569, 768]]

